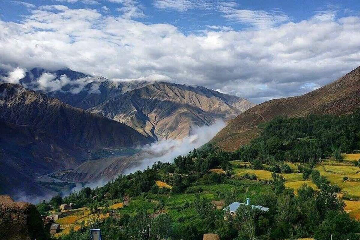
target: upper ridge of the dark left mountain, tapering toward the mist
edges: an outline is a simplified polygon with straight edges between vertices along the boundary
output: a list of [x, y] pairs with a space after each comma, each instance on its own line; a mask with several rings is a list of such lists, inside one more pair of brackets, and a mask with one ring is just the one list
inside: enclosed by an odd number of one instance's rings
[[125, 124], [10, 83], [0, 82], [0, 118], [42, 129], [82, 148], [126, 148], [151, 142]]

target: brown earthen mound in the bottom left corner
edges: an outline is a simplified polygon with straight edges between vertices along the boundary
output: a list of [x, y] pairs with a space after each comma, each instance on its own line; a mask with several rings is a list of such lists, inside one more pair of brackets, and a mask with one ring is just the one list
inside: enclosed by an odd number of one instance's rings
[[6, 240], [45, 240], [41, 215], [31, 203], [14, 202], [0, 196], [0, 238]]

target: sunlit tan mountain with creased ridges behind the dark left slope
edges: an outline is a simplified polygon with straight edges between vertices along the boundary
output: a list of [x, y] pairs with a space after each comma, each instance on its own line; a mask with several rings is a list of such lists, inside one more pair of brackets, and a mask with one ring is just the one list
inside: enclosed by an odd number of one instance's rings
[[181, 139], [194, 127], [228, 121], [254, 106], [205, 87], [97, 78], [78, 94], [49, 92], [75, 107], [125, 123], [154, 139]]

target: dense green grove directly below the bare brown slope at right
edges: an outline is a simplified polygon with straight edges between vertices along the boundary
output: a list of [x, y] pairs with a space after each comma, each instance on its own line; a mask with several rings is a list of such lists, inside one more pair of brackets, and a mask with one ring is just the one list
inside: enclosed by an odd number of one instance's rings
[[346, 116], [277, 117], [259, 126], [260, 136], [231, 154], [233, 159], [273, 164], [282, 161], [315, 163], [360, 149], [360, 112]]

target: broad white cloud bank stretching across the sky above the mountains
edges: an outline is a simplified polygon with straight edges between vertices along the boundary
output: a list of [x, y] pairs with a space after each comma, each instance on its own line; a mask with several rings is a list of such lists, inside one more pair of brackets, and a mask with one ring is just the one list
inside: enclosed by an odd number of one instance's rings
[[69, 67], [109, 79], [164, 78], [259, 103], [302, 94], [306, 83], [324, 85], [360, 64], [359, 17], [265, 25], [242, 31], [210, 26], [184, 35], [171, 24], [43, 6], [22, 23], [0, 21], [0, 66]]

